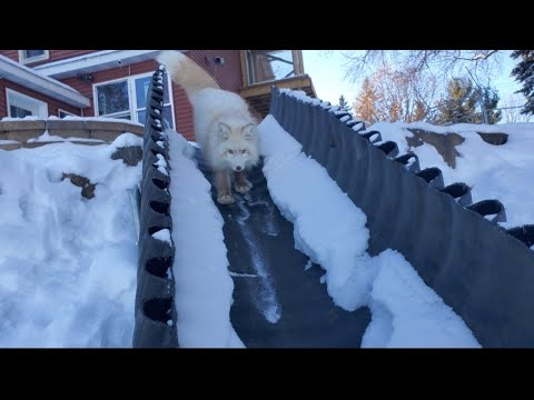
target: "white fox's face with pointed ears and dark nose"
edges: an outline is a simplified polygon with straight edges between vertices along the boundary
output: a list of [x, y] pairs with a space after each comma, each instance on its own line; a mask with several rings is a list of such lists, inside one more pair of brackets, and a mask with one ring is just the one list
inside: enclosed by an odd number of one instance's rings
[[253, 123], [237, 129], [219, 123], [221, 158], [231, 170], [243, 171], [257, 162], [255, 129]]

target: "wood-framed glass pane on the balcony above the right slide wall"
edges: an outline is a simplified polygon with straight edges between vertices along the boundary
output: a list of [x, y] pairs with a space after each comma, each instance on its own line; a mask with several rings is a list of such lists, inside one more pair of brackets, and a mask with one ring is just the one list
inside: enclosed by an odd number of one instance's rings
[[247, 50], [248, 84], [295, 77], [293, 50]]

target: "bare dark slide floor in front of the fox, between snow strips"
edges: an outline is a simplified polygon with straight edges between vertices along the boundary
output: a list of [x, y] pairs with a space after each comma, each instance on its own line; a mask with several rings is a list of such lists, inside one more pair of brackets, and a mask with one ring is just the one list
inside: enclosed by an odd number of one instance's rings
[[[200, 152], [198, 166], [211, 172]], [[293, 223], [273, 202], [261, 168], [248, 176], [253, 189], [217, 203], [234, 279], [230, 320], [247, 348], [358, 348], [370, 321], [367, 308], [347, 312], [320, 283], [324, 270], [295, 249]], [[215, 190], [215, 189], [214, 189]], [[306, 270], [305, 270], [306, 269]]]

